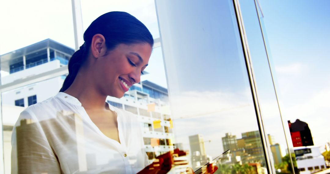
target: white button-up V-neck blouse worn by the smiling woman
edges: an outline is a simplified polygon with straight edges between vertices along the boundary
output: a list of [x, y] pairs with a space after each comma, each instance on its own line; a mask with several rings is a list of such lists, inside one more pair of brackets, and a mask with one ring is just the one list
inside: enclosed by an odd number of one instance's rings
[[120, 143], [66, 93], [27, 107], [12, 135], [12, 173], [137, 173], [149, 165], [137, 116], [117, 114]]

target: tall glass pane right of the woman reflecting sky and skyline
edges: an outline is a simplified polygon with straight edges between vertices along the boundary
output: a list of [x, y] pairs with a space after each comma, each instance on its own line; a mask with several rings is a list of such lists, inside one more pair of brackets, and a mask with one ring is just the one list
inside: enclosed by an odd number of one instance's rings
[[219, 168], [267, 172], [233, 2], [156, 0], [156, 7], [175, 144], [189, 151], [189, 166], [229, 148]]

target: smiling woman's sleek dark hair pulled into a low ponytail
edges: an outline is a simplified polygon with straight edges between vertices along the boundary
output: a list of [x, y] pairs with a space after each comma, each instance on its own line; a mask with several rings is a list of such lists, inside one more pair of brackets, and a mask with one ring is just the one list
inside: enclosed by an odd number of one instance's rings
[[59, 92], [67, 90], [81, 65], [86, 61], [89, 46], [95, 34], [102, 34], [109, 51], [118, 44], [148, 43], [153, 46], [153, 38], [147, 27], [136, 17], [126, 12], [109, 12], [95, 19], [83, 34], [85, 41], [69, 59], [69, 74]]

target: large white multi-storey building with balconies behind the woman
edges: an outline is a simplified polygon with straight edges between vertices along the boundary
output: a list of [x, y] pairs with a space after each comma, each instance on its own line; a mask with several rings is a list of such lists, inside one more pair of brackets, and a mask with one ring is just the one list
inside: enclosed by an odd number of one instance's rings
[[[66, 66], [74, 49], [47, 39], [36, 44], [1, 55], [1, 73], [8, 75], [2, 77], [2, 85], [15, 83], [16, 80], [29, 79], [42, 73]], [[19, 112], [3, 112], [5, 152], [11, 151], [11, 130], [19, 113], [27, 106], [44, 101], [55, 96], [62, 87], [65, 75], [32, 83], [2, 93], [4, 109]], [[107, 97], [111, 105], [130, 111], [137, 115], [141, 121], [145, 148], [150, 162], [156, 157], [173, 150], [174, 135], [170, 125], [170, 112], [167, 89], [148, 80], [134, 84], [123, 98]], [[154, 103], [154, 109], [148, 112], [148, 105]], [[160, 128], [154, 128], [153, 121], [160, 120]], [[152, 140], [157, 140], [158, 145], [152, 145]], [[6, 173], [10, 173], [10, 156], [6, 156]]]

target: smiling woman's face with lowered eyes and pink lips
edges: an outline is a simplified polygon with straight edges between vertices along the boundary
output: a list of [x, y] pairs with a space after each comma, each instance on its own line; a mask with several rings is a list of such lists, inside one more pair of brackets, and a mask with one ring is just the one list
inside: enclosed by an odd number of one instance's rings
[[123, 97], [128, 88], [140, 82], [151, 51], [149, 44], [118, 44], [115, 49], [99, 57], [96, 61], [98, 76], [95, 78], [98, 90], [103, 95]]

